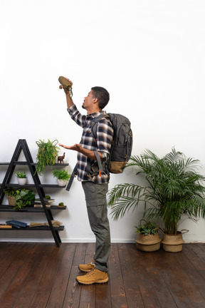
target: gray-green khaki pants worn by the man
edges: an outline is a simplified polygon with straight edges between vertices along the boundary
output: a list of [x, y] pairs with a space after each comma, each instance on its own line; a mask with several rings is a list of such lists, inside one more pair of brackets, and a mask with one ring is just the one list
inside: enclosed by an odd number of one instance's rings
[[110, 253], [110, 225], [107, 218], [108, 184], [82, 182], [91, 230], [95, 234], [95, 267], [107, 272]]

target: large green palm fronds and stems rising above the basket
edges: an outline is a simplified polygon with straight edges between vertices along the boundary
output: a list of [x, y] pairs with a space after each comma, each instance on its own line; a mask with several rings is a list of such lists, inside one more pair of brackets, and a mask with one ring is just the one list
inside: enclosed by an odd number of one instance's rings
[[186, 158], [174, 148], [163, 158], [146, 150], [130, 160], [127, 167], [137, 166], [137, 175], [143, 174], [147, 185], [125, 183], [108, 192], [114, 220], [144, 202], [144, 217], [162, 219], [164, 233], [176, 235], [182, 216], [194, 221], [205, 216], [205, 177], [196, 172], [199, 160]]

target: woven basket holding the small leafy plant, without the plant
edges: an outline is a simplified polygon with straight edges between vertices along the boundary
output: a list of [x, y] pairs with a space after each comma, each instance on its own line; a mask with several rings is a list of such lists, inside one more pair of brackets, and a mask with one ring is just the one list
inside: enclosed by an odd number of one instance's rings
[[158, 233], [155, 235], [144, 235], [139, 233], [135, 239], [137, 249], [144, 252], [154, 252], [159, 250], [161, 241], [162, 240]]

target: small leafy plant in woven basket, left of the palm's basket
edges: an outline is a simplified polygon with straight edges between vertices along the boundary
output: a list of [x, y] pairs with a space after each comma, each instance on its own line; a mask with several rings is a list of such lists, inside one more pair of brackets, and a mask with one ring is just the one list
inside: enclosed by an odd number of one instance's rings
[[[145, 221], [145, 220], [144, 220]], [[144, 225], [141, 224], [137, 226], [137, 237], [135, 239], [136, 246], [138, 250], [144, 252], [154, 252], [159, 250], [160, 243], [162, 242], [159, 237], [159, 227], [155, 222], [145, 221]]]

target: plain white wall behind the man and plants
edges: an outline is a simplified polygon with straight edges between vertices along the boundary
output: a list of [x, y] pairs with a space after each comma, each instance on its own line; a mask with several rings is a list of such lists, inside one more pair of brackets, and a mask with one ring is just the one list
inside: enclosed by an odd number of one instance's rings
[[[175, 146], [187, 156], [204, 156], [204, 0], [1, 0], [0, 3], [0, 161], [9, 161], [19, 138], [27, 140], [36, 160], [36, 140], [80, 140], [70, 120], [58, 76], [73, 81], [73, 100], [80, 108], [92, 86], [110, 91], [108, 112], [129, 117], [133, 155], [149, 148], [165, 155]], [[81, 110], [81, 109], [80, 109]], [[61, 151], [63, 153], [63, 151]], [[66, 152], [71, 171], [76, 154]], [[5, 168], [1, 167], [0, 181]], [[14, 178], [16, 180], [16, 178]], [[136, 180], [132, 170], [112, 175], [110, 188]], [[42, 183], [55, 183], [46, 175]], [[94, 241], [80, 183], [70, 193], [49, 190], [68, 210], [58, 212], [65, 242]], [[132, 242], [142, 208], [114, 222], [112, 242]], [[44, 215], [1, 213], [1, 222], [44, 222]], [[187, 242], [204, 242], [205, 222], [186, 221]], [[18, 232], [19, 240], [39, 234]], [[15, 238], [1, 232], [1, 240]], [[29, 237], [29, 238], [28, 238]], [[50, 232], [41, 240], [53, 240]], [[23, 239], [24, 238], [24, 239]]]

